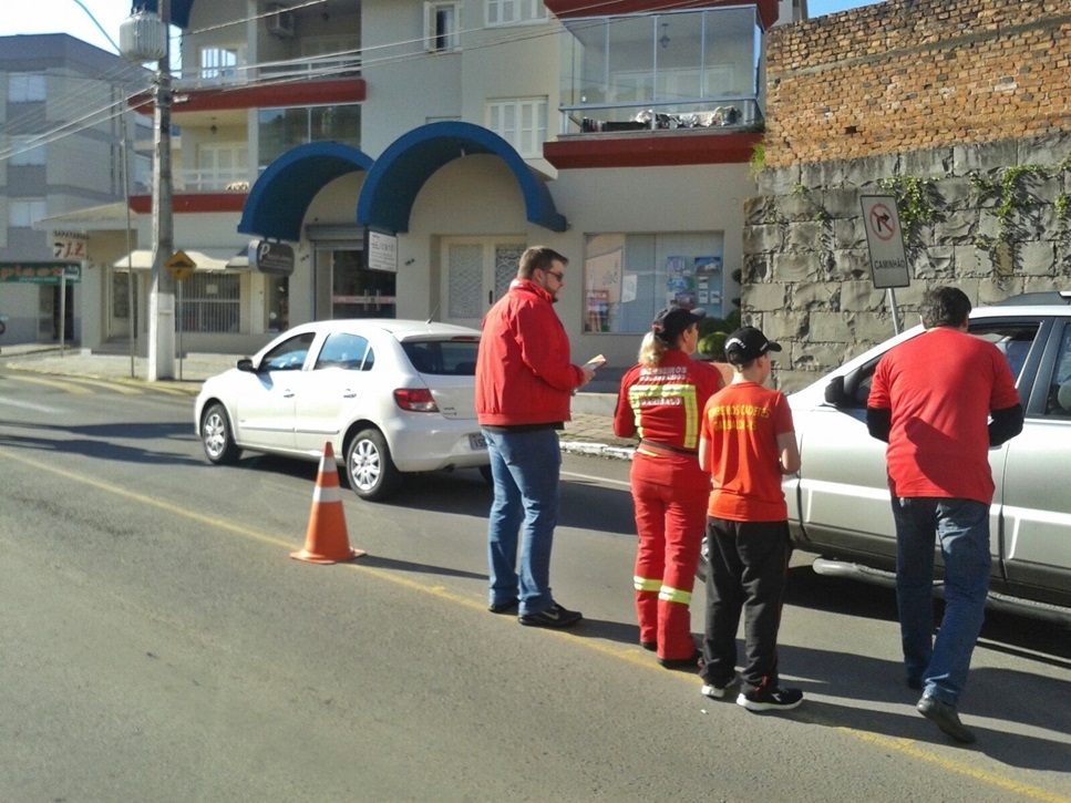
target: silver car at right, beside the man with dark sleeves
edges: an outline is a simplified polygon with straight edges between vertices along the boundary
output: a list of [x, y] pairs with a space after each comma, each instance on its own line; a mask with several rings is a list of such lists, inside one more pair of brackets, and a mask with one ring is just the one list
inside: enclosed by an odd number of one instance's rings
[[[1007, 358], [1026, 410], [1022, 433], [989, 452], [997, 485], [990, 601], [1064, 619], [1071, 615], [1067, 300], [1022, 297], [970, 316], [970, 332]], [[878, 359], [921, 331], [906, 331], [789, 397], [802, 456], [799, 476], [784, 483], [790, 525], [797, 546], [825, 558], [815, 564], [822, 573], [882, 579], [895, 570], [885, 444], [867, 433], [866, 400]]]

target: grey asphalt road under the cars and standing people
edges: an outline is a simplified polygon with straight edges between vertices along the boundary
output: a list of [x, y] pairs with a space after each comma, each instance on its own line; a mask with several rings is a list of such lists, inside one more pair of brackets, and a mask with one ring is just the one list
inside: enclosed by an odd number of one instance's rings
[[0, 367], [0, 800], [1071, 801], [1067, 629], [990, 617], [959, 748], [900, 682], [892, 594], [797, 555], [807, 697], [752, 714], [636, 644], [624, 462], [566, 459], [559, 634], [484, 609], [476, 472], [343, 491], [369, 555], [307, 564], [316, 465], [208, 466], [190, 411]]

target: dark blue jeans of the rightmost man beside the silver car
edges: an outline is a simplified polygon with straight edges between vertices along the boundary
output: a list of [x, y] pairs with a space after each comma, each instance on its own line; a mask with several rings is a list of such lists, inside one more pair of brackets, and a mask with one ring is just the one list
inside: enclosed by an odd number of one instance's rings
[[[952, 706], [967, 684], [989, 593], [989, 505], [975, 500], [893, 498], [896, 603], [904, 666], [924, 693]], [[934, 534], [945, 560], [945, 618], [934, 632]]]

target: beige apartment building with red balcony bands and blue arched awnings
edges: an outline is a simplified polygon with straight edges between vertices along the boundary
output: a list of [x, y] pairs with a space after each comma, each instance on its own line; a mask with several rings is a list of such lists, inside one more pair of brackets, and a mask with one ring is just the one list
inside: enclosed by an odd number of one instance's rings
[[[577, 359], [630, 364], [670, 301], [732, 309], [763, 38], [800, 0], [169, 6], [187, 351], [325, 318], [478, 326], [535, 244], [570, 258]], [[133, 272], [147, 309], [148, 195], [131, 206], [136, 247], [94, 249], [94, 348], [125, 331], [109, 276]]]

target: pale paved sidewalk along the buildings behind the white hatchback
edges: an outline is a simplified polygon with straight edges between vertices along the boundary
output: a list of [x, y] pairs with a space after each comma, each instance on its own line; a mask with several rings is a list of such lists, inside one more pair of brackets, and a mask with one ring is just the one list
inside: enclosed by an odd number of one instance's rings
[[[175, 361], [175, 379], [161, 380], [179, 387], [190, 397], [209, 377], [234, 368], [238, 354], [186, 354]], [[89, 349], [43, 344], [0, 344], [0, 367], [66, 377], [87, 377], [128, 382], [145, 382], [148, 360], [128, 354], [94, 354]], [[612, 371], [594, 380], [573, 398], [573, 420], [562, 433], [562, 450], [614, 460], [631, 460], [634, 441], [614, 435], [612, 415], [619, 377]]]

